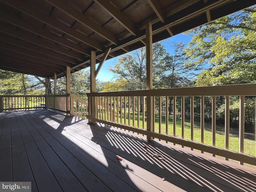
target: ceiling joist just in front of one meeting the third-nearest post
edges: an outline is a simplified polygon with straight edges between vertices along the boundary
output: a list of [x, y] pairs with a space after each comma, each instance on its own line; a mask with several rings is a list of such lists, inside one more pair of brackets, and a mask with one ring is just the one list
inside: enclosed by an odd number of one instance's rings
[[76, 64], [76, 60], [74, 58], [70, 58], [68, 56], [61, 55], [57, 52], [53, 52], [53, 51], [48, 50], [44, 47], [36, 46], [34, 44], [30, 44], [30, 43], [25, 42], [25, 41], [10, 38], [10, 37], [7, 37], [7, 36], [0, 36], [0, 41], [6, 42], [6, 43], [9, 43], [9, 44], [13, 44], [13, 45], [16, 45], [16, 46], [19, 46], [19, 47], [22, 47], [22, 48], [25, 48], [25, 49], [28, 49], [28, 50], [32, 50], [32, 51], [35, 51], [35, 52], [38, 52], [38, 53], [41, 53], [41, 54], [45, 54], [45, 55], [48, 55], [48, 56], [51, 56], [51, 57], [54, 57], [54, 58], [57, 58], [57, 59], [60, 59], [60, 60], [64, 60], [64, 61], [68, 61], [68, 62]]

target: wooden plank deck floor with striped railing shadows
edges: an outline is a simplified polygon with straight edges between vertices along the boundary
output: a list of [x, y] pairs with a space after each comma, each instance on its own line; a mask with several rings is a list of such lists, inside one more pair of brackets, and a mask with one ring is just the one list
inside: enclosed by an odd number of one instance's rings
[[0, 181], [31, 181], [33, 192], [256, 191], [254, 167], [87, 123], [51, 110], [0, 113]]

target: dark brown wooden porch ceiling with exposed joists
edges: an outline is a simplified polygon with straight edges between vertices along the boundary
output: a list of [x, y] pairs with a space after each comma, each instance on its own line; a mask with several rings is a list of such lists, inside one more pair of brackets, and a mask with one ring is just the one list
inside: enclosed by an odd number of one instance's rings
[[[255, 0], [0, 0], [0, 69], [65, 75], [254, 5]], [[111, 48], [111, 49], [110, 49]]]

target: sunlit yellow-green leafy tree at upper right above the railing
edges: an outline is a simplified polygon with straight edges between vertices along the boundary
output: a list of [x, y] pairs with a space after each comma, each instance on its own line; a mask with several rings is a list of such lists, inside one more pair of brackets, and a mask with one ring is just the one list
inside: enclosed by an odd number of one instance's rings
[[204, 71], [198, 86], [254, 83], [256, 79], [256, 6], [187, 32], [191, 61]]

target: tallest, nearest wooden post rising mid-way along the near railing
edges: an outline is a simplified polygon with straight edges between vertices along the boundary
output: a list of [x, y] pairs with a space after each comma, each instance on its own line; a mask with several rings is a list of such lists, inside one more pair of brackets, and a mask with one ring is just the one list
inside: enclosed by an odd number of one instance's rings
[[[146, 89], [153, 89], [153, 61], [152, 61], [152, 24], [146, 24]], [[153, 97], [147, 96], [147, 130], [153, 131]], [[147, 140], [151, 141], [153, 138], [147, 135]]]

